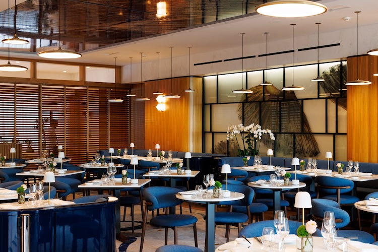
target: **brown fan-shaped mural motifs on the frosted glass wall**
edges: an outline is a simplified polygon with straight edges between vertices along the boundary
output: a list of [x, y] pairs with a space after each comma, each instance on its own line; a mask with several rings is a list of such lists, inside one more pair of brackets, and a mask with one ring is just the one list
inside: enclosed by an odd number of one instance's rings
[[[317, 96], [311, 99], [327, 99], [333, 104], [337, 104], [335, 105], [335, 110], [338, 110], [337, 107], [346, 110], [346, 87], [344, 85], [346, 81], [346, 64], [344, 62], [342, 64], [340, 62], [334, 63], [335, 65], [322, 72], [322, 76], [326, 81], [319, 82], [316, 90]], [[320, 153], [320, 147], [316, 136], [312, 134], [311, 127], [316, 128], [317, 125], [314, 123], [310, 125], [307, 116], [311, 116], [311, 113], [308, 115], [303, 111], [302, 105], [305, 98], [297, 98], [295, 92], [284, 92], [281, 87], [273, 83], [272, 86], [257, 85], [249, 88], [254, 93], [247, 95], [247, 98], [245, 98], [245, 95], [241, 96], [235, 113], [237, 113], [237, 117], [243, 125], [255, 123], [260, 124], [262, 129], [272, 130], [276, 140], [272, 141], [269, 134], [268, 136], [263, 135], [261, 142], [265, 146], [264, 149], [274, 149], [275, 153], [279, 152], [283, 156], [293, 156], [293, 142], [295, 141], [294, 156], [316, 157]], [[343, 91], [340, 92], [340, 90]], [[300, 94], [299, 92], [306, 92], [306, 89], [298, 91], [297, 94]], [[313, 107], [312, 109], [316, 110], [318, 108]], [[328, 118], [327, 111], [323, 111], [323, 113], [326, 121]], [[227, 130], [227, 127], [230, 126], [224, 125], [224, 129]], [[324, 134], [328, 134], [327, 131]], [[337, 130], [335, 131], [337, 133]], [[331, 133], [333, 132], [331, 131]], [[228, 141], [226, 140], [226, 134], [224, 137], [224, 141], [221, 140], [218, 143], [214, 141], [214, 153], [240, 156], [239, 149], [243, 142], [241, 135], [237, 134], [234, 138], [228, 139]], [[260, 155], [264, 154], [260, 153]]]

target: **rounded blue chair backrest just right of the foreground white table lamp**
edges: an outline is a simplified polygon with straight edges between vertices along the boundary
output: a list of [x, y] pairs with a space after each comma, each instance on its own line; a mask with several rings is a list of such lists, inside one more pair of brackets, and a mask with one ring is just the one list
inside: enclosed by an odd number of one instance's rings
[[334, 212], [336, 228], [342, 228], [349, 224], [349, 214], [345, 210], [341, 209], [340, 205], [336, 201], [327, 199], [312, 199], [311, 203], [312, 215], [314, 216], [314, 219], [317, 221], [318, 226], [322, 225], [324, 212], [326, 211]]

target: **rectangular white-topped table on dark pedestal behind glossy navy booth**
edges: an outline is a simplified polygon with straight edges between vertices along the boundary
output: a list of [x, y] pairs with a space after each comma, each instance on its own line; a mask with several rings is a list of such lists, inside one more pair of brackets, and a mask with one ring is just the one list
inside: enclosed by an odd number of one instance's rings
[[[79, 188], [90, 189], [96, 188], [99, 191], [101, 190], [112, 190], [113, 196], [118, 198], [116, 208], [115, 208], [115, 233], [116, 238], [119, 241], [126, 242], [129, 240], [128, 233], [121, 232], [121, 214], [120, 214], [120, 194], [123, 188], [141, 188], [142, 186], [151, 182], [151, 179], [138, 179], [138, 183], [132, 184], [131, 182], [127, 182], [126, 184], [122, 184], [121, 181], [115, 180], [114, 184], [103, 183], [101, 179], [94, 179], [90, 180], [86, 183], [78, 185]], [[133, 234], [137, 236], [137, 234]]]

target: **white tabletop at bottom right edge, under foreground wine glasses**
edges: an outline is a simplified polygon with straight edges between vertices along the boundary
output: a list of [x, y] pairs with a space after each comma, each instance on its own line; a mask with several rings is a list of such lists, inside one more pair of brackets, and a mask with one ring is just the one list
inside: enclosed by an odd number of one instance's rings
[[[316, 252], [326, 252], [326, 251], [329, 251], [328, 249], [325, 249], [324, 248], [324, 241], [323, 241], [323, 237], [318, 237], [318, 236], [312, 236], [313, 238], [313, 251], [316, 251]], [[251, 244], [239, 244], [237, 243], [235, 240], [233, 241], [230, 241], [230, 242], [227, 242], [227, 243], [224, 243], [222, 245], [220, 245], [219, 247], [217, 247], [217, 249], [215, 250], [215, 252], [220, 252], [220, 251], [224, 251], [224, 252], [244, 252], [244, 251], [248, 251], [248, 252], [263, 252], [263, 251], [268, 251], [267, 248], [264, 248], [264, 246], [258, 242], [256, 239], [254, 239], [253, 237], [249, 238], [248, 237], [248, 240], [251, 242]], [[286, 252], [296, 252], [296, 251], [300, 251], [300, 249], [297, 249], [296, 248], [296, 243], [295, 242], [284, 242], [285, 243], [285, 251]], [[363, 242], [360, 242], [360, 241], [347, 241], [347, 244], [348, 244], [348, 251], [350, 252], [355, 252], [355, 251], [362, 251], [361, 249], [371, 249], [371, 250], [368, 250], [368, 251], [376, 251], [378, 249], [378, 247], [376, 245], [373, 245], [373, 244], [368, 244], [368, 243], [363, 243]], [[248, 246], [250, 246], [248, 248]], [[361, 248], [361, 249], [359, 249]], [[338, 251], [341, 251], [341, 250], [338, 250]]]

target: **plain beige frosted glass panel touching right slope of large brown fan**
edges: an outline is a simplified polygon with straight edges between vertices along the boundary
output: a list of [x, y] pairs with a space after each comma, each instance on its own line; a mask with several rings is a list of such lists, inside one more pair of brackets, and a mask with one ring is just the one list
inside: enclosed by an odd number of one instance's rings
[[[326, 132], [326, 100], [304, 100], [303, 113], [306, 115], [311, 132]], [[304, 132], [306, 132], [304, 130]]]

